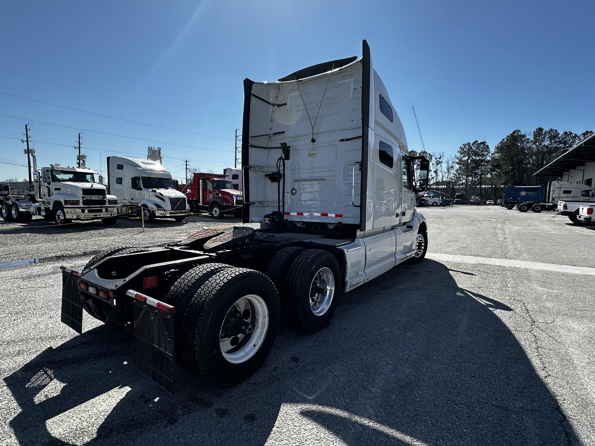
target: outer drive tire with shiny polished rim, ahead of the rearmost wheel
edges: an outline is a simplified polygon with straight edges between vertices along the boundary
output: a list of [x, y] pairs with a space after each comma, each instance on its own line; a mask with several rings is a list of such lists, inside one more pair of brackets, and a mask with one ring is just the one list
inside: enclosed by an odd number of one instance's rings
[[341, 289], [339, 265], [321, 249], [299, 253], [287, 272], [286, 314], [309, 332], [317, 332], [333, 318]]

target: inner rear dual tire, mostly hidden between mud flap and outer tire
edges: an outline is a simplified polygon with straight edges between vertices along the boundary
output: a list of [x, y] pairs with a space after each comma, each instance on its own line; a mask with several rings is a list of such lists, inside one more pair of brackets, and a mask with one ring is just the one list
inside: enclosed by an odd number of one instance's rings
[[[174, 319], [175, 333], [176, 333], [176, 350], [181, 351], [182, 354], [177, 355], [177, 363], [184, 364], [184, 356], [186, 351], [189, 351], [190, 345], [185, 340], [190, 340], [193, 337], [192, 330], [189, 329], [184, 334], [184, 319], [186, 312], [190, 306], [190, 302], [196, 294], [196, 291], [205, 284], [208, 279], [213, 277], [224, 269], [232, 268], [231, 265], [225, 263], [205, 263], [204, 265], [195, 266], [177, 279], [170, 288], [165, 301], [176, 307], [176, 316]], [[193, 327], [194, 328], [194, 327]]]

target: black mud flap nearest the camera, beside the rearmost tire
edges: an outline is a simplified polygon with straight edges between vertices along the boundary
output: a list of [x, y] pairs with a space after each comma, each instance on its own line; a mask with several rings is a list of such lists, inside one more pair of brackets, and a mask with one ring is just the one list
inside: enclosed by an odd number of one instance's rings
[[173, 394], [173, 315], [139, 300], [134, 300], [134, 367]]

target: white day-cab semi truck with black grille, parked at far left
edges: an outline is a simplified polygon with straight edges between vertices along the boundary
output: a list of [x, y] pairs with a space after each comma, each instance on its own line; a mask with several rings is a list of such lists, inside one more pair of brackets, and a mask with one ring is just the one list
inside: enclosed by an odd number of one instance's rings
[[57, 225], [73, 220], [101, 219], [105, 225], [117, 222], [117, 198], [105, 186], [95, 183], [91, 169], [51, 164], [37, 169], [33, 157], [33, 185], [24, 196], [0, 193], [0, 214], [5, 221], [30, 222], [41, 215]]

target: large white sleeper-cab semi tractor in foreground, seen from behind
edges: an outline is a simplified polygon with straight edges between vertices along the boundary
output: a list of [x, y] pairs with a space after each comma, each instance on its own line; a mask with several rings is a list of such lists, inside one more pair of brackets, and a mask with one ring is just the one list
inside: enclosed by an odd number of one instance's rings
[[[429, 164], [409, 156], [365, 40], [363, 52], [244, 81], [243, 222], [258, 230], [206, 228], [156, 250], [108, 249], [81, 271], [63, 266], [62, 322], [82, 332], [84, 309], [132, 328], [135, 366], [166, 390], [174, 363], [231, 386], [264, 363], [281, 311], [317, 332], [343, 292], [421, 262], [428, 227], [415, 193]], [[319, 107], [310, 124], [306, 111]]]

